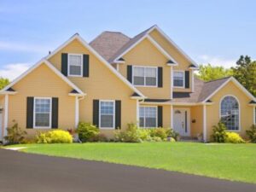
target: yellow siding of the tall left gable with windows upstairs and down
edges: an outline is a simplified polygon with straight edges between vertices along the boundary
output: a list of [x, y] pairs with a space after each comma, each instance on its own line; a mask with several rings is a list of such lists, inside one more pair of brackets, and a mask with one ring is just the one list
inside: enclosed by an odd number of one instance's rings
[[[93, 100], [121, 100], [121, 126], [125, 129], [128, 123], [137, 121], [136, 100], [130, 96], [133, 91], [114, 75], [108, 67], [92, 55], [78, 40], [74, 40], [55, 55], [49, 61], [61, 70], [61, 53], [88, 54], [90, 55], [89, 78], [67, 77], [79, 89], [87, 95], [79, 102], [79, 120], [92, 122], [92, 102]], [[101, 130], [108, 136], [113, 135], [113, 130]]]

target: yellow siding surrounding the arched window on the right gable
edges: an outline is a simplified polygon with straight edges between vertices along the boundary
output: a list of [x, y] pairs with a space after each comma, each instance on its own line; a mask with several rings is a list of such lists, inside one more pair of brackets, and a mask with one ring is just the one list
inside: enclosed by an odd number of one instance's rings
[[236, 84], [230, 82], [226, 84], [218, 93], [212, 96], [212, 105], [207, 106], [207, 137], [212, 135], [212, 126], [218, 124], [220, 102], [223, 96], [236, 96], [240, 103], [240, 129], [237, 131], [241, 137], [246, 137], [246, 130], [253, 125], [253, 107], [248, 103], [251, 101], [243, 91], [241, 91]]

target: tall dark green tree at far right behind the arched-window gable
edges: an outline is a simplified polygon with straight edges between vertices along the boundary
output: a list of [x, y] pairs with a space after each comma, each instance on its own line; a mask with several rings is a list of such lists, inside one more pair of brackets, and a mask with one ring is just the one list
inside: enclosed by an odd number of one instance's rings
[[236, 67], [232, 67], [234, 77], [247, 89], [253, 96], [256, 96], [256, 61], [251, 61], [249, 56], [241, 55], [236, 61]]

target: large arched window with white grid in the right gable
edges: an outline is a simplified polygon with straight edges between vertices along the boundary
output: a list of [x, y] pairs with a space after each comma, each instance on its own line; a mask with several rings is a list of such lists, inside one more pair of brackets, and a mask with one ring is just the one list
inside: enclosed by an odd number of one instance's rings
[[228, 130], [239, 130], [239, 103], [234, 96], [225, 96], [220, 104], [221, 120]]

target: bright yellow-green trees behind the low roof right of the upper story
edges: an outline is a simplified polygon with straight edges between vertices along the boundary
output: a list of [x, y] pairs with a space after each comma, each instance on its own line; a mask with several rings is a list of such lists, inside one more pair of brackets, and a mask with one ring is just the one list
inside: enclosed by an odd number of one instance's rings
[[213, 67], [211, 64], [207, 64], [206, 66], [199, 66], [199, 74], [197, 77], [203, 81], [211, 81], [216, 79], [222, 79], [225, 77], [232, 76], [231, 69], [225, 69], [224, 67]]

